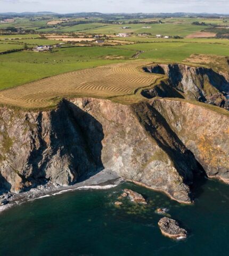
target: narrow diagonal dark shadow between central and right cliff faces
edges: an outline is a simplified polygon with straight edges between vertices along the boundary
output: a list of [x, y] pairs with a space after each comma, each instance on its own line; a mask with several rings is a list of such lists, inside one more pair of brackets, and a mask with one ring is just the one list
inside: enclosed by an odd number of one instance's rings
[[199, 185], [202, 186], [206, 181], [203, 177], [207, 177], [207, 174], [193, 153], [185, 147], [166, 119], [149, 103], [140, 103], [133, 107], [145, 130], [166, 152], [178, 173], [183, 177], [184, 182], [189, 186], [191, 185], [192, 195], [199, 196], [201, 189], [198, 188], [197, 192], [193, 191], [196, 188], [194, 183], [198, 180]]

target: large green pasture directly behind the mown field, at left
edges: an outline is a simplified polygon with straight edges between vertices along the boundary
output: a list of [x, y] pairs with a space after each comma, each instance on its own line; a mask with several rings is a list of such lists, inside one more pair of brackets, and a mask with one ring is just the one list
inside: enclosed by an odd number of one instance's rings
[[0, 70], [4, 74], [0, 80], [0, 89], [68, 71], [121, 62], [123, 60], [102, 57], [119, 55], [129, 58], [134, 53], [134, 50], [108, 47], [70, 47], [46, 53], [23, 51], [0, 55]]

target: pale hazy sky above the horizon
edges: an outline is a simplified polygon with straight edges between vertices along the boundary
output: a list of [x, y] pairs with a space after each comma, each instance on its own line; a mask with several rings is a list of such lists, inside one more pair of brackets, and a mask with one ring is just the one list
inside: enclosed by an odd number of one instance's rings
[[1, 12], [229, 13], [229, 0], [0, 0]]

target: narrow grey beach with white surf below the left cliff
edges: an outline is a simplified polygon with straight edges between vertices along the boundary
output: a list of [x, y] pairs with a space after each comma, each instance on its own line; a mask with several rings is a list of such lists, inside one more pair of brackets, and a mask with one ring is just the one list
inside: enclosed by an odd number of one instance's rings
[[120, 178], [115, 172], [110, 170], [103, 170], [99, 173], [96, 173], [92, 177], [78, 182], [70, 186], [54, 186], [52, 184], [47, 184], [45, 186], [40, 185], [37, 188], [32, 188], [29, 191], [21, 193], [7, 193], [7, 195], [12, 195], [7, 198], [9, 203], [0, 205], [0, 214], [7, 209], [15, 205], [21, 205], [23, 203], [34, 201], [36, 199], [50, 197], [55, 195], [60, 195], [74, 190], [87, 190], [87, 189], [110, 189], [118, 186], [124, 179]]

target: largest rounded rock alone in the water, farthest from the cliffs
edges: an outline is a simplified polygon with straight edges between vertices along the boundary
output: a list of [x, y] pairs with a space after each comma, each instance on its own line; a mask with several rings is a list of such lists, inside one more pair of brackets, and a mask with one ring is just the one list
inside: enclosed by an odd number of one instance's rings
[[187, 231], [179, 227], [177, 221], [164, 217], [159, 220], [158, 226], [161, 230], [161, 233], [165, 236], [174, 239], [183, 239], [187, 237]]

